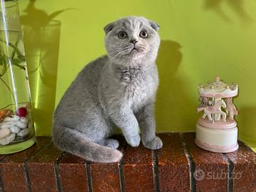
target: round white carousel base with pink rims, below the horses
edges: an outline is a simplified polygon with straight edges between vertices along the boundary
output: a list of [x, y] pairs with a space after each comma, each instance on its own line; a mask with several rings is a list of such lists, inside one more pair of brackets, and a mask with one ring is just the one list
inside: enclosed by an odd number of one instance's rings
[[223, 127], [204, 127], [200, 122], [202, 119], [199, 119], [196, 124], [195, 143], [197, 146], [218, 153], [230, 153], [238, 149], [238, 127], [235, 121], [219, 123], [225, 124]]

